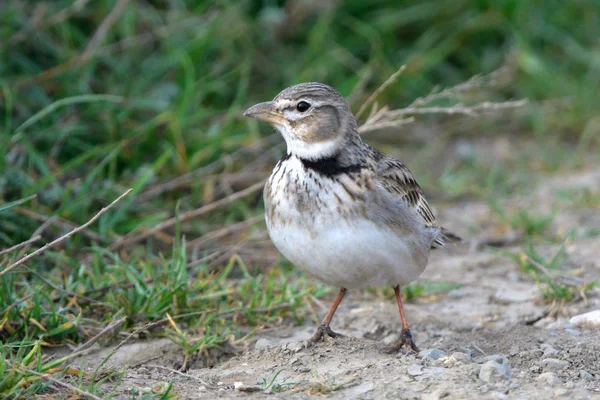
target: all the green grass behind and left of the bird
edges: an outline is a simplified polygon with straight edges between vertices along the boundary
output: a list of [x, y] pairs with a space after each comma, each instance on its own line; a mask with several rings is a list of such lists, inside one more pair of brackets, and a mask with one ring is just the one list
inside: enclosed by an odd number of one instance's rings
[[[593, 2], [296, 2], [301, 12], [290, 15], [282, 1], [137, 1], [105, 35], [99, 27], [116, 1], [78, 9], [83, 3], [0, 7], [0, 249], [41, 237], [1, 255], [0, 268], [133, 192], [88, 229], [0, 277], [0, 397], [56, 391], [23, 368], [110, 397], [104, 378], [73, 377], [68, 358], [50, 360], [43, 349], [80, 345], [121, 319], [99, 342], [155, 323], [143, 334], [170, 337], [183, 364], [231, 337], [306, 316], [304, 301], [325, 288], [263, 251], [258, 191], [113, 247], [260, 182], [281, 156], [281, 140], [241, 112], [285, 86], [324, 81], [357, 111], [406, 64], [378, 98], [402, 107], [504, 65], [502, 82], [433, 105], [529, 98], [510, 123], [502, 115], [418, 118], [445, 127], [427, 146], [404, 145], [428, 193], [492, 203], [526, 193], [537, 174], [598, 161]], [[431, 168], [452, 140], [499, 134], [524, 145], [504, 160], [465, 156]], [[567, 197], [597, 208], [595, 194]], [[549, 216], [504, 215], [528, 238], [547, 238]], [[410, 286], [405, 294], [430, 289]], [[166, 384], [138, 394], [172, 391]]]

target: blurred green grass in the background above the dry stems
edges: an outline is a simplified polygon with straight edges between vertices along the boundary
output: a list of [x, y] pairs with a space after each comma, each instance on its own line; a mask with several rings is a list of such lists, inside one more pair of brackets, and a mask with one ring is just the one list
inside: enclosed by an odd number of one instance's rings
[[[407, 71], [380, 103], [407, 105], [437, 85], [508, 65], [515, 76], [498, 96], [529, 98], [538, 108], [555, 102], [552, 112], [531, 118], [527, 132], [597, 134], [597, 120], [589, 123], [600, 107], [598, 7], [516, 0], [5, 1], [0, 193], [5, 200], [37, 193], [48, 211], [81, 221], [120, 191], [117, 182], [129, 186], [144, 173], [144, 186], [258, 139], [268, 129], [242, 120], [241, 111], [286, 86], [323, 81], [349, 96], [360, 83], [356, 109], [403, 64]], [[119, 98], [77, 97], [91, 94]], [[73, 184], [90, 171], [93, 182]], [[77, 192], [90, 187], [79, 199]], [[4, 222], [0, 241], [18, 242], [23, 228]]]

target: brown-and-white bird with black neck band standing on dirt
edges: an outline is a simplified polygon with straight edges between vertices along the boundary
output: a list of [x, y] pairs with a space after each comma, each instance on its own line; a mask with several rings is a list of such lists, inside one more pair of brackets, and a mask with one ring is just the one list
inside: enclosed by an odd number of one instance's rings
[[348, 103], [326, 84], [288, 87], [244, 116], [271, 124], [287, 145], [264, 187], [271, 241], [339, 288], [310, 340], [342, 336], [330, 324], [348, 290], [391, 286], [402, 323], [392, 347], [418, 352], [400, 290], [425, 270], [431, 249], [458, 236], [438, 225], [413, 174], [363, 142]]

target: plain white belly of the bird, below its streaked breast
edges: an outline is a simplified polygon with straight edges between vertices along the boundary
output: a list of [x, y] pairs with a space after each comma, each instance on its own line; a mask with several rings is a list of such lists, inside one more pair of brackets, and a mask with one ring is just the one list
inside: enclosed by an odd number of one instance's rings
[[414, 257], [413, 238], [365, 219], [318, 218], [310, 230], [295, 223], [273, 227], [269, 221], [267, 227], [277, 249], [296, 267], [337, 287], [404, 286], [427, 264]]

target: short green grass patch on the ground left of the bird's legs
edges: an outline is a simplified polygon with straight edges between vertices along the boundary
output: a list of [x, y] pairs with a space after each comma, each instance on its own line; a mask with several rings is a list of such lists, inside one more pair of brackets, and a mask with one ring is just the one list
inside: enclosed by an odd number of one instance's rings
[[[12, 369], [15, 364], [31, 368], [37, 362], [40, 373], [51, 370], [62, 378], [62, 366], [70, 357], [46, 361], [42, 348], [89, 340], [117, 319], [123, 323], [115, 325], [111, 334], [138, 329], [150, 335], [166, 334], [183, 349], [185, 366], [192, 355], [243, 340], [260, 327], [283, 319], [301, 322], [308, 312], [307, 299], [326, 291], [324, 285], [277, 266], [268, 273], [251, 274], [237, 255], [220, 269], [207, 264], [190, 266], [185, 240], [179, 238], [171, 259], [123, 260], [111, 254], [94, 258], [91, 268], [73, 269], [68, 275], [48, 273], [45, 279], [56, 279], [56, 290], [46, 290], [43, 282], [24, 285], [20, 278], [14, 273], [0, 278], [4, 288], [0, 292], [0, 337], [5, 343], [0, 387], [19, 395], [39, 393], [47, 383]], [[148, 328], [143, 329], [145, 326]], [[192, 326], [202, 329], [190, 330]], [[250, 327], [250, 333], [242, 327]], [[31, 337], [40, 339], [32, 341]], [[79, 385], [89, 391], [100, 390], [98, 387], [114, 376], [84, 374], [79, 378]], [[35, 386], [23, 388], [24, 379], [36, 382]]]

